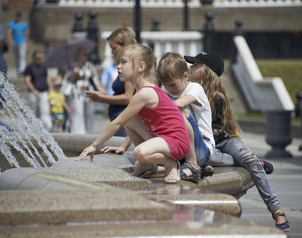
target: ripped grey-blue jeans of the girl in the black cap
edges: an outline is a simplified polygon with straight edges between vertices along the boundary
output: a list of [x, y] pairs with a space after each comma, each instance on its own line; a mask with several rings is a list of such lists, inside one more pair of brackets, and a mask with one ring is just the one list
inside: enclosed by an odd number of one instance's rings
[[252, 175], [252, 180], [268, 210], [273, 213], [281, 209], [276, 193], [259, 163], [259, 159], [238, 138], [224, 140], [215, 146], [209, 162], [213, 167], [242, 166]]

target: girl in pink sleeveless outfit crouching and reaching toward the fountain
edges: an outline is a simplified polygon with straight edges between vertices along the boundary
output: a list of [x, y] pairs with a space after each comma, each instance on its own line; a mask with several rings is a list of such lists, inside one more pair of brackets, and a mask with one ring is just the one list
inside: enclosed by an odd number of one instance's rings
[[[138, 161], [133, 176], [149, 176], [157, 171], [157, 164], [163, 164], [166, 183], [180, 180], [178, 160], [188, 153], [190, 139], [181, 112], [156, 85], [155, 68], [156, 57], [149, 47], [131, 44], [120, 50], [117, 56], [118, 76], [123, 82], [129, 81], [136, 93], [127, 108], [75, 160], [90, 154], [93, 161], [97, 147], [124, 126], [129, 138], [121, 147], [125, 150], [132, 141], [135, 145], [133, 155]], [[101, 151], [107, 152], [112, 148], [105, 147]]]

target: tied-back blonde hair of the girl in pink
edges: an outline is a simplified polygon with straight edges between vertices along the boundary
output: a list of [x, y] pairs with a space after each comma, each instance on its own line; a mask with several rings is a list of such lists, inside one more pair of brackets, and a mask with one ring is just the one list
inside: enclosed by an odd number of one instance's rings
[[[136, 79], [136, 85], [133, 86], [136, 90], [139, 89], [138, 82], [141, 82], [141, 78], [154, 84], [158, 83], [158, 79], [155, 76], [157, 59], [150, 47], [146, 47], [141, 44], [130, 44], [124, 46], [117, 55], [117, 65], [120, 63], [122, 56], [127, 56], [132, 62], [132, 69], [134, 71], [133, 78]], [[141, 62], [145, 63], [146, 67], [142, 73], [142, 76], [140, 76], [140, 78], [137, 78], [138, 71], [134, 69], [138, 69], [138, 66]]]

